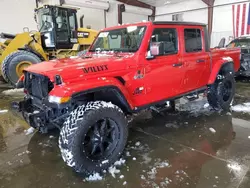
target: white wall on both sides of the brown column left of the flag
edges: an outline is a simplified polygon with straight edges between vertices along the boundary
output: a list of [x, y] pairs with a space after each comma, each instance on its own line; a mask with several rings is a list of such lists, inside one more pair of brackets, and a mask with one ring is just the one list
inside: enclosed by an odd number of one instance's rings
[[[226, 38], [226, 43], [229, 42], [229, 38], [233, 37], [232, 4], [244, 1], [215, 0], [211, 47], [217, 46], [222, 37]], [[176, 4], [156, 7], [156, 20], [172, 21], [172, 15], [176, 13], [183, 13], [183, 21], [208, 23], [207, 5], [201, 0], [187, 0]]]

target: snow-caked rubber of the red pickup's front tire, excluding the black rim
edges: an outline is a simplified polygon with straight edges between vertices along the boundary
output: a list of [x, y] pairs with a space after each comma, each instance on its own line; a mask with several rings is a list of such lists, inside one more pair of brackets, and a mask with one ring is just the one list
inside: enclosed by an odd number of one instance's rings
[[[119, 141], [111, 154], [99, 161], [92, 161], [81, 152], [82, 137], [100, 118], [112, 118], [118, 125]], [[77, 173], [101, 173], [122, 154], [128, 137], [128, 123], [122, 110], [104, 101], [89, 102], [79, 106], [66, 119], [59, 136], [59, 148], [64, 162]], [[106, 160], [103, 164], [102, 162]]]

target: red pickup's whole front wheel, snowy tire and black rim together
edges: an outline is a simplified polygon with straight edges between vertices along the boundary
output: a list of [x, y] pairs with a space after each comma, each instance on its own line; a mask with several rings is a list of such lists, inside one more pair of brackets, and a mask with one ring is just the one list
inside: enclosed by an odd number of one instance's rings
[[59, 148], [66, 164], [77, 173], [101, 173], [122, 154], [128, 123], [122, 110], [104, 101], [79, 106], [66, 119]]

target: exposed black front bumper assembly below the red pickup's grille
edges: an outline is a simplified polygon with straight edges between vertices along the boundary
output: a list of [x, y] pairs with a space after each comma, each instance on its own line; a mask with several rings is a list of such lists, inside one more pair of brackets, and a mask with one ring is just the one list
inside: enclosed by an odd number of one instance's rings
[[43, 133], [54, 127], [60, 128], [70, 111], [69, 103], [52, 104], [34, 97], [26, 97], [14, 106], [31, 127]]

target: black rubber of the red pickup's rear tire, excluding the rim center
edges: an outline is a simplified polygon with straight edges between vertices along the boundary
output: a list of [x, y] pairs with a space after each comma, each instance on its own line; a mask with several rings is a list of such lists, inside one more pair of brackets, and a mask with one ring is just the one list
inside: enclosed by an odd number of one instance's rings
[[[224, 83], [231, 83], [231, 94], [228, 100], [223, 100], [222, 87]], [[209, 105], [215, 110], [228, 111], [233, 103], [235, 95], [235, 79], [233, 74], [218, 75], [214, 84], [210, 85], [207, 93], [207, 100]]]

